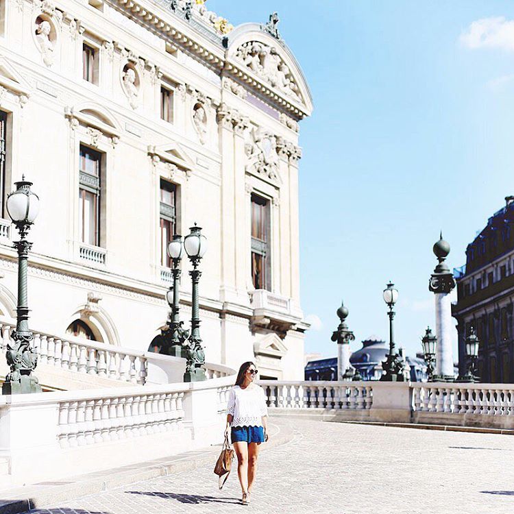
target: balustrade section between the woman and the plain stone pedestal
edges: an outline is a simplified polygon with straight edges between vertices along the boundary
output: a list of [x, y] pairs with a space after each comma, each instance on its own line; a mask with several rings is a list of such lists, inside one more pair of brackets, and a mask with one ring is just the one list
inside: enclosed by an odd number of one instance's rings
[[261, 380], [271, 408], [367, 410], [373, 405], [374, 382], [277, 382]]

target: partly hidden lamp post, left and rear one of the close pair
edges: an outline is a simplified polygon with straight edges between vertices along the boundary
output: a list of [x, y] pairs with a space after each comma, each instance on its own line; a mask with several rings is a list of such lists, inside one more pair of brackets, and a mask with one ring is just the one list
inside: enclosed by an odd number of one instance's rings
[[164, 354], [175, 357], [184, 357], [184, 341], [188, 338], [189, 331], [182, 328], [183, 321], [180, 321], [180, 261], [184, 254], [182, 236], [175, 234], [168, 245], [168, 255], [171, 258], [171, 274], [173, 284], [166, 293], [167, 302], [171, 308], [171, 317], [168, 321], [168, 330], [162, 332], [165, 342]]

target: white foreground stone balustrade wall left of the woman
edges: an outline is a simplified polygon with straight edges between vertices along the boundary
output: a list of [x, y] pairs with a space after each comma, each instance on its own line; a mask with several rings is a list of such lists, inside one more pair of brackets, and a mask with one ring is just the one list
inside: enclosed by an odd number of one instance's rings
[[0, 490], [220, 443], [234, 380], [0, 396]]

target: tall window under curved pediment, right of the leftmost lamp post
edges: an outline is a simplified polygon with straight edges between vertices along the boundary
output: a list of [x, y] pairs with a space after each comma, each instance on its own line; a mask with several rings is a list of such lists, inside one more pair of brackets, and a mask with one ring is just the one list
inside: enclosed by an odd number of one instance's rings
[[80, 146], [79, 230], [80, 240], [100, 246], [101, 154]]

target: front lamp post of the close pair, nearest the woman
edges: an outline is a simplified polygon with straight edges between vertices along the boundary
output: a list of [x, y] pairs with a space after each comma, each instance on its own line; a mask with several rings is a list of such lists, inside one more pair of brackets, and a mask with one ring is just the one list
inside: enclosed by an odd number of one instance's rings
[[207, 251], [207, 238], [201, 234], [201, 228], [197, 227], [196, 223], [189, 230], [191, 232], [184, 238], [184, 249], [193, 265], [193, 269], [189, 271], [191, 281], [193, 282], [193, 295], [191, 297], [191, 335], [187, 340], [188, 342], [184, 344], [186, 356], [184, 382], [197, 382], [206, 380], [205, 370], [201, 368], [205, 364], [205, 352], [201, 345], [198, 299], [198, 282], [201, 277], [201, 271], [197, 267]]

